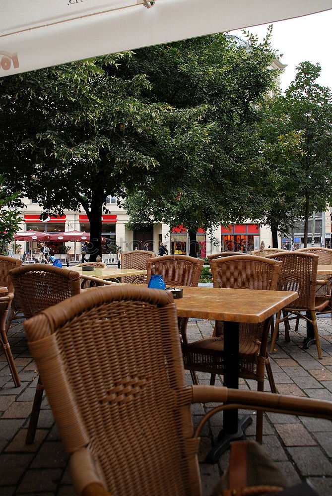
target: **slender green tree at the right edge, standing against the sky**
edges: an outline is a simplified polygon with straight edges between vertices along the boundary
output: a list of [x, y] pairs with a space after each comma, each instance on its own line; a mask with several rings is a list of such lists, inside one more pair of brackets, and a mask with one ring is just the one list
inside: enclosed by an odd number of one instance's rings
[[[325, 211], [332, 200], [332, 92], [318, 84], [319, 64], [301, 62], [295, 80], [275, 102], [277, 119], [284, 122], [283, 134], [301, 133], [301, 146], [285, 176], [288, 193], [302, 202], [304, 246], [308, 240], [308, 219], [314, 211]], [[288, 195], [289, 196], [289, 195]]]

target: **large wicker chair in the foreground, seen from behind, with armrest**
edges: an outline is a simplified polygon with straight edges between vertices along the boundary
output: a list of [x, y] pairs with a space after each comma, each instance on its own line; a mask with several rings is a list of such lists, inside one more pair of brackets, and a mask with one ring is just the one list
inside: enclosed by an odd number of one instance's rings
[[194, 433], [192, 403], [332, 420], [324, 400], [187, 386], [176, 309], [162, 291], [96, 289], [24, 327], [80, 496], [200, 496], [197, 449], [211, 412]]

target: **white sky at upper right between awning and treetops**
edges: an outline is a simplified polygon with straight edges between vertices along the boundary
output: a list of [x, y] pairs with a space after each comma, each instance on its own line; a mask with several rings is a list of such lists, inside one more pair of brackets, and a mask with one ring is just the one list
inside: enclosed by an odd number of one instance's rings
[[[267, 26], [263, 24], [249, 30], [262, 40]], [[304, 61], [320, 63], [322, 72], [318, 82], [332, 88], [331, 27], [332, 10], [273, 23], [272, 47], [283, 54], [280, 62], [287, 64], [280, 77], [282, 90], [294, 79], [296, 66]], [[245, 39], [242, 30], [231, 33]]]

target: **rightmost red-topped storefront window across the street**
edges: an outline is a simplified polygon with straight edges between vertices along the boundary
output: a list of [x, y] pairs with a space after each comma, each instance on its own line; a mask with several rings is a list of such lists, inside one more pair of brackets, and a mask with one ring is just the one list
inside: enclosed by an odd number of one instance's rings
[[221, 226], [221, 250], [243, 251], [260, 248], [259, 224], [233, 224]]

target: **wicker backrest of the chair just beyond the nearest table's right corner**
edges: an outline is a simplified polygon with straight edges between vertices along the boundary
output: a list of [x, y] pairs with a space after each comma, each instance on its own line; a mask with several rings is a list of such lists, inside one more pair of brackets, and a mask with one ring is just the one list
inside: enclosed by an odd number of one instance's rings
[[282, 261], [279, 289], [297, 291], [299, 294], [299, 298], [290, 304], [290, 308], [314, 310], [318, 255], [296, 250], [271, 254], [268, 258]]

